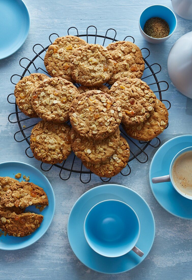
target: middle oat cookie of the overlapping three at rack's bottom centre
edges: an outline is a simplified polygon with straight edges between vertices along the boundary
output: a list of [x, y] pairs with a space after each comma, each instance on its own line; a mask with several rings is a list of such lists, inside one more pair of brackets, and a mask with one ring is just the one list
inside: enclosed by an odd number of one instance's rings
[[82, 161], [97, 164], [105, 161], [113, 155], [119, 146], [119, 128], [110, 136], [100, 141], [81, 137], [74, 129], [71, 129], [71, 146], [75, 155]]

